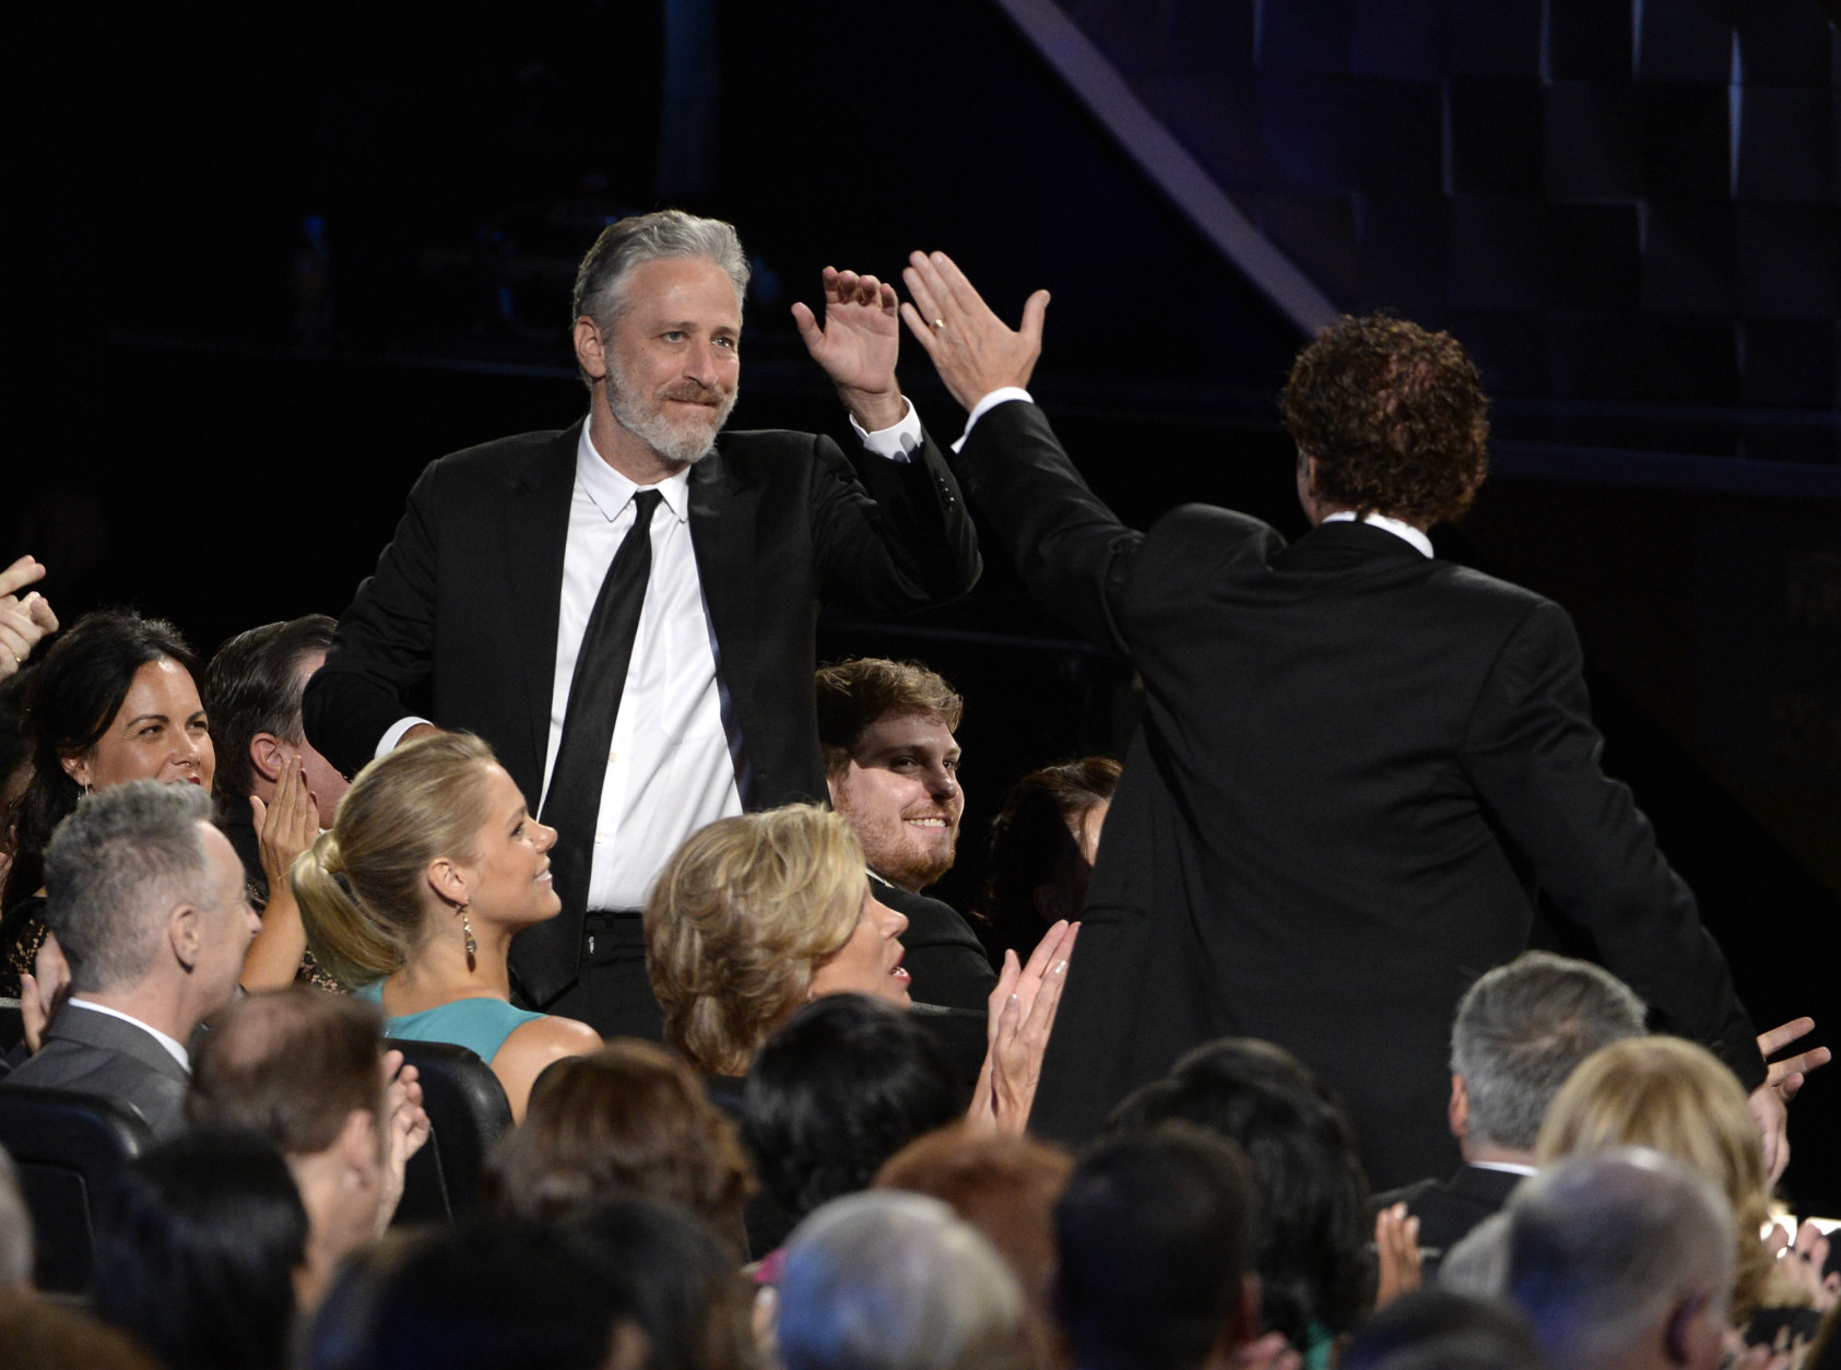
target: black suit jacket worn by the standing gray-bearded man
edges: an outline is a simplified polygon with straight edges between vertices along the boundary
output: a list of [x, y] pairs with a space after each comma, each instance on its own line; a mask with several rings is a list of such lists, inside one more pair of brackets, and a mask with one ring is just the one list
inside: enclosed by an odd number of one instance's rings
[[[339, 621], [302, 703], [342, 772], [433, 691], [431, 716], [486, 738], [536, 808], [582, 424], [429, 464], [377, 573]], [[860, 468], [810, 433], [727, 433], [690, 468], [690, 541], [733, 707], [747, 808], [825, 797], [812, 672], [821, 604], [920, 610], [978, 582], [978, 540], [932, 440]], [[659, 853], [663, 860], [668, 853]], [[576, 976], [582, 908], [519, 934], [512, 969], [545, 1004]]]

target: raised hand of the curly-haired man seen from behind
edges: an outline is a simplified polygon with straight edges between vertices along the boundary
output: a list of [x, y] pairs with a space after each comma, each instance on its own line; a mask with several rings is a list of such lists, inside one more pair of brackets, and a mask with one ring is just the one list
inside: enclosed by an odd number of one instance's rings
[[1048, 291], [1024, 302], [1022, 328], [1009, 328], [972, 289], [944, 252], [915, 252], [902, 271], [911, 304], [902, 306], [908, 331], [932, 357], [952, 398], [972, 409], [992, 390], [1024, 389], [1042, 355]]

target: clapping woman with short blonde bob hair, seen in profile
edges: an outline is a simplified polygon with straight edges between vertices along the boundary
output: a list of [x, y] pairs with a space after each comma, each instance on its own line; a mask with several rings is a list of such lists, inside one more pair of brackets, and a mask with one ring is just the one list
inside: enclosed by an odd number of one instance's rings
[[[816, 805], [724, 818], [696, 832], [659, 873], [644, 923], [665, 1042], [709, 1075], [746, 1074], [806, 1000], [909, 1002], [908, 919], [876, 902], [851, 827]], [[1005, 954], [974, 1121], [1018, 1132], [1027, 1121], [1077, 930], [1057, 923], [1027, 965]]]

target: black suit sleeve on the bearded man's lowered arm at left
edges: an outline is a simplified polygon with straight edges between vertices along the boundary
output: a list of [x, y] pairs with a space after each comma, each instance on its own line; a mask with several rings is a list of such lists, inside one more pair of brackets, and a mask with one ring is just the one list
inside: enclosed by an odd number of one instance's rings
[[346, 775], [376, 755], [390, 724], [411, 713], [409, 691], [434, 663], [434, 486], [431, 462], [409, 492], [377, 571], [339, 619], [326, 665], [300, 702], [307, 738]]

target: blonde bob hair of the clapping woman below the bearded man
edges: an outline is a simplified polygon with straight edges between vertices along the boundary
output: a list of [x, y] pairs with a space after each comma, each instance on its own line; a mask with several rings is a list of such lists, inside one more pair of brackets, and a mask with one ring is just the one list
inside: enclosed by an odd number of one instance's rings
[[703, 1074], [746, 1074], [851, 941], [867, 895], [863, 851], [825, 808], [722, 818], [690, 836], [646, 899], [666, 1046]]

